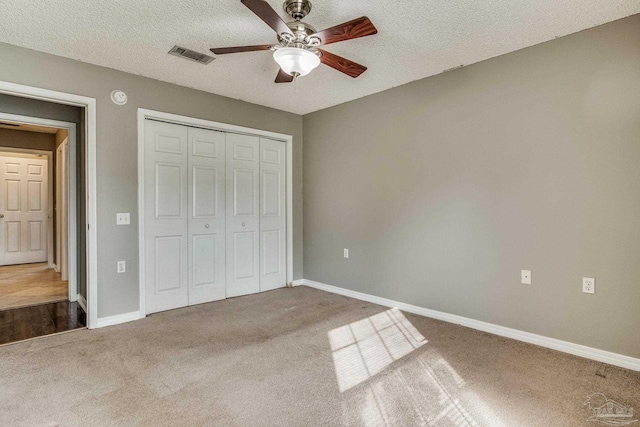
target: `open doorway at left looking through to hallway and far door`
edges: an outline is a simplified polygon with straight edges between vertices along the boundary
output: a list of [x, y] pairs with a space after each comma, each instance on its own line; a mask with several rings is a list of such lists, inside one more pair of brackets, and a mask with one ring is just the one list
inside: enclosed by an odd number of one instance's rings
[[75, 137], [74, 123], [0, 113], [0, 343], [86, 326]]

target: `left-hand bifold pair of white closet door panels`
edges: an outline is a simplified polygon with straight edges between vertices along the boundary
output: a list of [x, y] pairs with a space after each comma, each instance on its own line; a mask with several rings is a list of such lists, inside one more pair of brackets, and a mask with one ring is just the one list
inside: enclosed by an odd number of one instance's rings
[[225, 298], [225, 134], [146, 121], [146, 311]]

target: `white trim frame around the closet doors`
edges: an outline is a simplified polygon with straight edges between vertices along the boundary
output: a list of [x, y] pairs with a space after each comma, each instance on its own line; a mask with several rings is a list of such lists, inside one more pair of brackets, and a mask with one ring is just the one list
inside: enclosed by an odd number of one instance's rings
[[282, 141], [286, 144], [286, 209], [287, 209], [287, 283], [293, 281], [293, 136], [269, 132], [265, 130], [252, 129], [244, 126], [230, 125], [227, 123], [214, 122], [210, 120], [196, 119], [193, 117], [180, 116], [177, 114], [164, 113], [161, 111], [138, 109], [138, 265], [139, 265], [139, 308], [140, 318], [146, 316], [145, 307], [145, 248], [144, 248], [144, 161], [145, 144], [144, 128], [145, 120], [159, 120], [177, 125], [191, 126], [215, 131], [238, 133], [243, 135], [258, 136], [273, 140]]

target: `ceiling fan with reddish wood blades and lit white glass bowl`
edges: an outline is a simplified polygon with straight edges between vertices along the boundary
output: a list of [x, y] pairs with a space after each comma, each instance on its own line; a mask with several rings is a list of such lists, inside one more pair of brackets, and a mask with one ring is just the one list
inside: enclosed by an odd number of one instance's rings
[[316, 31], [302, 19], [311, 12], [310, 0], [286, 0], [285, 12], [294, 21], [285, 23], [265, 0], [241, 0], [278, 34], [278, 44], [213, 48], [216, 55], [227, 53], [273, 51], [273, 58], [280, 65], [276, 83], [290, 83], [309, 74], [320, 63], [328, 65], [351, 77], [358, 77], [367, 70], [364, 65], [320, 49], [319, 46], [376, 34], [378, 30], [369, 18], [363, 16], [323, 31]]

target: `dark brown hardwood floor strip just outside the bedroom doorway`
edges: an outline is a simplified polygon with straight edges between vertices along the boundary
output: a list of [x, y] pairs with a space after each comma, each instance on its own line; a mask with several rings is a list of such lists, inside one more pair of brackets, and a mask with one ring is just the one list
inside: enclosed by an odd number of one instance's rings
[[84, 328], [87, 316], [77, 302], [60, 301], [0, 311], [0, 344]]

